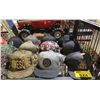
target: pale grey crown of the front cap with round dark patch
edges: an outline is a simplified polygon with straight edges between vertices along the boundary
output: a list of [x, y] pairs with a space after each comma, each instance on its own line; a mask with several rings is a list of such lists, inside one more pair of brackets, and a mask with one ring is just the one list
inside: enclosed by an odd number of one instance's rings
[[65, 57], [59, 53], [55, 53], [53, 51], [44, 51], [39, 54], [39, 65], [41, 68], [45, 69], [43, 62], [45, 61], [45, 59], [47, 59], [49, 62], [49, 65], [48, 65], [49, 68], [56, 68], [57, 66], [59, 67], [62, 61], [64, 61], [64, 58]]

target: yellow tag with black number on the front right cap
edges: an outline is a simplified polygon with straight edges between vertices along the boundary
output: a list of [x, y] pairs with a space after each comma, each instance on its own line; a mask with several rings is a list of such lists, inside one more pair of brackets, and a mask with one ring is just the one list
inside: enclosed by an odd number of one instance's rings
[[74, 74], [77, 78], [92, 78], [90, 71], [74, 71]]

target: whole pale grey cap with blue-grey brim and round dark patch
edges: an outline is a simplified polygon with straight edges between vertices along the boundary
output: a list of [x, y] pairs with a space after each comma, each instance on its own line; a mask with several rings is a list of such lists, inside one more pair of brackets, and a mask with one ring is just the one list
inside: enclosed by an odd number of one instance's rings
[[60, 64], [65, 56], [54, 51], [43, 51], [39, 54], [39, 65], [35, 68], [35, 76], [41, 78], [55, 78], [59, 75]]

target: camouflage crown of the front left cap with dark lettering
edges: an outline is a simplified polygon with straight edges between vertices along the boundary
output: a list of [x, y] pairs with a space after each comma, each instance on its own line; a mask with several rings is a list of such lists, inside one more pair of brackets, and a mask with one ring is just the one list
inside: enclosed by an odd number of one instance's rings
[[9, 55], [9, 67], [11, 71], [25, 70], [38, 63], [38, 57], [31, 51], [18, 50]]

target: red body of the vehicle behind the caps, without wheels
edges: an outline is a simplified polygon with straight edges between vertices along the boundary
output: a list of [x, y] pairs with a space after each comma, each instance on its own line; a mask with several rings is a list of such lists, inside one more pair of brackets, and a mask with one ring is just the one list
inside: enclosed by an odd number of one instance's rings
[[31, 25], [33, 29], [52, 28], [56, 22], [64, 23], [64, 20], [19, 20], [18, 29], [22, 29], [25, 25]]

